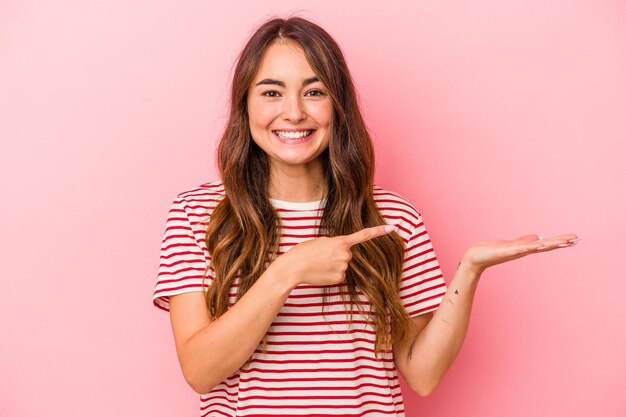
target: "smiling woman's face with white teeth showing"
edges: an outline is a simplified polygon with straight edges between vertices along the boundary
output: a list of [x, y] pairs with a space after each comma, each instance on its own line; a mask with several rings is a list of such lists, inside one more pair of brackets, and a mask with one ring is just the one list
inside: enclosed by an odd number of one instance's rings
[[268, 47], [247, 103], [252, 139], [273, 168], [319, 163], [330, 140], [332, 101], [298, 44], [277, 41]]

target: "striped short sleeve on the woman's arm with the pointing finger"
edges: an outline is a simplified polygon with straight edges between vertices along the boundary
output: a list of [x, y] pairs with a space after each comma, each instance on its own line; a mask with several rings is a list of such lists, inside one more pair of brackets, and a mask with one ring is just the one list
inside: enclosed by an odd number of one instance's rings
[[[167, 216], [165, 234], [161, 243], [161, 257], [157, 283], [152, 296], [153, 304], [169, 311], [169, 297], [194, 291], [203, 291], [207, 286], [204, 274], [208, 266], [208, 251], [203, 231], [195, 230], [197, 221], [192, 221], [185, 200], [177, 198]], [[212, 278], [208, 276], [207, 278]]]

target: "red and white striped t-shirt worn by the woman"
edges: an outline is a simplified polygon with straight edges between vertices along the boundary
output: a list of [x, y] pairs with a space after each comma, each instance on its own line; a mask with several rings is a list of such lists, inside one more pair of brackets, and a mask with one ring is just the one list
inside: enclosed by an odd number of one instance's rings
[[[169, 297], [203, 291], [214, 272], [205, 243], [206, 224], [224, 196], [221, 181], [178, 195], [169, 211], [154, 305], [169, 311]], [[405, 244], [400, 298], [409, 316], [436, 310], [446, 292], [439, 263], [420, 213], [397, 193], [374, 186], [378, 209]], [[271, 200], [281, 219], [279, 255], [319, 232], [320, 202]], [[237, 280], [231, 288], [235, 301]], [[348, 326], [340, 287], [293, 289], [251, 361], [200, 396], [201, 416], [404, 416], [393, 351], [374, 356], [375, 332], [354, 308]], [[362, 293], [361, 300], [367, 301]], [[365, 309], [366, 311], [368, 308]]]

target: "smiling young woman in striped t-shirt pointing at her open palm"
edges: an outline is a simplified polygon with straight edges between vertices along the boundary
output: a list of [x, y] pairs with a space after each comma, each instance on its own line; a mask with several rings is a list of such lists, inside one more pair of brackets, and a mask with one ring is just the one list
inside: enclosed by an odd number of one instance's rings
[[403, 416], [398, 372], [433, 391], [481, 273], [577, 241], [476, 243], [448, 288], [420, 213], [373, 184], [340, 48], [298, 17], [241, 52], [218, 161], [172, 205], [153, 299], [203, 416]]

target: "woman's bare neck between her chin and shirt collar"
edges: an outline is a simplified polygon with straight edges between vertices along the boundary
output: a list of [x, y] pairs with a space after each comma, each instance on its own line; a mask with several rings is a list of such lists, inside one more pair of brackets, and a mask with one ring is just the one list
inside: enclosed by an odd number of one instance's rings
[[326, 194], [322, 164], [316, 159], [307, 165], [270, 167], [270, 198], [292, 202], [318, 201]]

